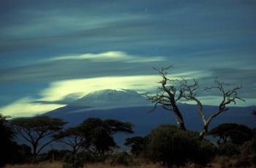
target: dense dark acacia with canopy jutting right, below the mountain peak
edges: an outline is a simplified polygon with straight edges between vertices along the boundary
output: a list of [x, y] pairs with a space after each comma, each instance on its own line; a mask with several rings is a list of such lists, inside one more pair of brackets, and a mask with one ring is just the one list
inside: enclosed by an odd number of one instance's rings
[[133, 133], [132, 124], [114, 119], [90, 118], [80, 124], [86, 139], [86, 148], [93, 153], [102, 154], [118, 147], [113, 139], [117, 132]]

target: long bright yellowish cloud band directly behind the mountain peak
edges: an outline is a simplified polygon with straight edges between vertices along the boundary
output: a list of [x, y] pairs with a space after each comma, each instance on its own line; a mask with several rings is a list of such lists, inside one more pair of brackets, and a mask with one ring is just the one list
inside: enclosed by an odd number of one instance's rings
[[[181, 76], [191, 76], [196, 72], [176, 73], [172, 79]], [[197, 75], [204, 76], [197, 72]], [[135, 89], [136, 91], [151, 92], [157, 89], [157, 81], [161, 80], [159, 75], [148, 76], [106, 76], [91, 79], [70, 79], [52, 82], [48, 88], [39, 91], [39, 97], [23, 97], [15, 102], [0, 108], [4, 115], [13, 116], [33, 116], [54, 110], [70, 103], [70, 95], [74, 100], [83, 97], [89, 92], [100, 89]], [[68, 100], [67, 100], [68, 99]]]

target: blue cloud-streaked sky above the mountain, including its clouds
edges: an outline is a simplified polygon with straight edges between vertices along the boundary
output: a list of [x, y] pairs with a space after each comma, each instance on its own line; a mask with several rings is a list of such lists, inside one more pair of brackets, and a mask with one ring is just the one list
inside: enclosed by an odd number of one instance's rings
[[[107, 87], [150, 91], [159, 80], [151, 67], [165, 65], [203, 86], [215, 76], [242, 82], [241, 105], [255, 105], [255, 17], [256, 1], [246, 0], [1, 0], [0, 110], [40, 113], [58, 105], [33, 100]], [[202, 98], [215, 104], [216, 96]]]

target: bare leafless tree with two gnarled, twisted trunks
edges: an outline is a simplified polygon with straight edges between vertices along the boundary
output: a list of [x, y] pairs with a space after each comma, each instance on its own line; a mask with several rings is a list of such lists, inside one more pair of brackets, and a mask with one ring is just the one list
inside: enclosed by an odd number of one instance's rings
[[159, 81], [159, 90], [161, 92], [156, 95], [146, 95], [146, 97], [148, 100], [151, 100], [152, 103], [154, 103], [154, 109], [159, 104], [162, 105], [162, 108], [165, 108], [165, 110], [173, 111], [173, 113], [176, 115], [178, 126], [183, 130], [186, 130], [186, 127], [184, 125], [182, 113], [178, 108], [178, 101], [195, 101], [198, 106], [200, 118], [203, 121], [203, 129], [200, 131], [199, 135], [201, 139], [204, 137], [204, 135], [208, 133], [208, 127], [212, 119], [219, 116], [220, 113], [229, 110], [229, 108], [227, 108], [227, 105], [229, 105], [230, 103], [236, 104], [237, 100], [244, 101], [241, 97], [238, 96], [238, 90], [241, 89], [241, 85], [232, 89], [226, 88], [228, 84], [219, 81], [216, 78], [214, 81], [216, 85], [214, 87], [206, 87], [205, 90], [217, 89], [222, 95], [222, 100], [218, 105], [217, 111], [212, 112], [211, 116], [206, 119], [206, 116], [203, 112], [203, 104], [197, 98], [197, 91], [199, 89], [198, 81], [193, 79], [192, 84], [189, 84], [189, 80], [184, 78], [168, 79], [167, 70], [169, 68], [170, 67], [161, 68], [160, 70], [154, 68], [156, 71], [158, 71], [159, 75], [162, 76], [162, 81]]

